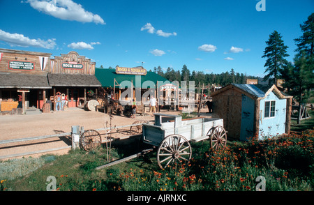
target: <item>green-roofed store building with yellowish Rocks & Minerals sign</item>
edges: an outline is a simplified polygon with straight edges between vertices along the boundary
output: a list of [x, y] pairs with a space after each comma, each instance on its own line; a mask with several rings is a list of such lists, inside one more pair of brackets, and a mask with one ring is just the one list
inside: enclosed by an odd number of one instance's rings
[[[152, 95], [158, 105], [167, 105], [170, 99], [178, 99], [179, 87], [164, 77], [140, 67], [116, 69], [96, 68], [96, 77], [110, 98], [121, 101], [135, 100], [138, 105], [148, 105]], [[158, 88], [158, 89], [156, 89]], [[173, 101], [173, 100], [172, 100]], [[162, 103], [162, 104], [160, 104]]]

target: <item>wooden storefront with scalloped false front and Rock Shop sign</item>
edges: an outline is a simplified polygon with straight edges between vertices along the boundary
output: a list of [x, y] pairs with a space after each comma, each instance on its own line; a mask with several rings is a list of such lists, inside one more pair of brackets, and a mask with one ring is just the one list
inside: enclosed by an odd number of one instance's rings
[[95, 66], [91, 59], [74, 51], [54, 56], [47, 75], [52, 86], [50, 99], [53, 101], [60, 92], [68, 96], [68, 107], [84, 107], [89, 100], [87, 92], [97, 92], [97, 87], [101, 86], [95, 76]]

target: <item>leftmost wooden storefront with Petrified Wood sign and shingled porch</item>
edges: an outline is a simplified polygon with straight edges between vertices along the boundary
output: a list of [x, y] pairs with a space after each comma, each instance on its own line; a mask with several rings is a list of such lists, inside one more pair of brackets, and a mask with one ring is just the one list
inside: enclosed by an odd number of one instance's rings
[[[46, 91], [51, 89], [47, 80], [50, 56], [43, 52], [0, 49], [1, 111], [16, 108], [19, 95], [23, 109], [43, 106]], [[5, 106], [10, 103], [15, 105]]]

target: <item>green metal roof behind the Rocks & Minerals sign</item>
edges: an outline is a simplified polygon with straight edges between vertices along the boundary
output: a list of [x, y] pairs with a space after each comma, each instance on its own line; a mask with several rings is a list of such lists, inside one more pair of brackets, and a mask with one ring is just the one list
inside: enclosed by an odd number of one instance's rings
[[95, 68], [95, 76], [97, 77], [101, 86], [112, 88], [114, 87], [114, 79], [116, 79], [117, 83], [120, 84], [120, 86], [123, 88], [126, 86], [130, 87], [132, 81], [135, 88], [156, 86], [157, 82], [158, 86], [160, 86], [161, 84], [164, 84], [164, 82], [169, 82], [167, 79], [165, 79], [165, 77], [161, 77], [160, 75], [151, 71], [147, 71], [147, 75], [124, 75], [117, 74], [115, 69]]

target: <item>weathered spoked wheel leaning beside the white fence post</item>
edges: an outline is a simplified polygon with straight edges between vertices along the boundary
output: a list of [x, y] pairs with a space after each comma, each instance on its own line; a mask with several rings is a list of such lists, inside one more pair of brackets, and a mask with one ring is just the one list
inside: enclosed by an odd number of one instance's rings
[[86, 130], [80, 137], [80, 146], [85, 151], [91, 151], [101, 145], [101, 137], [96, 130]]

